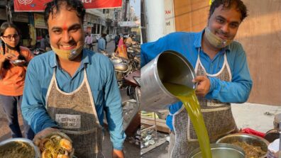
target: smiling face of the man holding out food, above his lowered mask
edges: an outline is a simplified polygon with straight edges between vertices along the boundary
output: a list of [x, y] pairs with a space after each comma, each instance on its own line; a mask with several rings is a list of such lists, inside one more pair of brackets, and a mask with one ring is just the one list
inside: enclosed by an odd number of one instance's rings
[[67, 11], [65, 6], [60, 6], [60, 12], [50, 14], [48, 18], [50, 45], [60, 50], [73, 50], [79, 45], [84, 45], [84, 32], [82, 22], [76, 11]]

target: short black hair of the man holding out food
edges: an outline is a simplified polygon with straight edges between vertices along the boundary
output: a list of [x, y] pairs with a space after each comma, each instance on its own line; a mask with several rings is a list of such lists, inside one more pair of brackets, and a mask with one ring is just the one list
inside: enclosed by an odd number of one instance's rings
[[77, 16], [83, 23], [84, 15], [86, 13], [82, 1], [79, 0], [53, 0], [45, 4], [45, 23], [48, 26], [49, 16], [54, 16], [54, 13], [60, 12], [60, 6], [66, 6], [68, 11], [75, 10]]

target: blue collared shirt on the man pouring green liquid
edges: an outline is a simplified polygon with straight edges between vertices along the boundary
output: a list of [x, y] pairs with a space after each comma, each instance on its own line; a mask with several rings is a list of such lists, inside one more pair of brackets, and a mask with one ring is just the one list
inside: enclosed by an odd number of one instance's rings
[[[180, 52], [187, 60], [196, 66], [198, 50], [199, 57], [208, 74], [216, 74], [221, 70], [224, 64], [224, 53], [231, 69], [232, 80], [221, 81], [215, 77], [209, 77], [211, 87], [206, 98], [216, 99], [224, 103], [243, 103], [247, 101], [252, 89], [253, 81], [250, 78], [250, 72], [246, 60], [246, 53], [240, 43], [233, 41], [230, 45], [222, 49], [213, 59], [201, 50], [202, 35], [204, 30], [199, 33], [170, 33], [155, 42], [144, 43], [141, 45], [141, 66], [153, 60], [160, 52], [165, 50], [174, 50]], [[172, 114], [179, 111], [182, 102], [177, 102], [169, 106], [170, 115], [167, 115], [166, 123], [172, 128]]]

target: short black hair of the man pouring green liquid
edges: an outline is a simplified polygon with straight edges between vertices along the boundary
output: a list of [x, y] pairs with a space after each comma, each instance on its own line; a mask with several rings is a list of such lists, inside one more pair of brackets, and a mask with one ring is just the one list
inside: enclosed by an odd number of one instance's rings
[[211, 17], [211, 14], [214, 13], [214, 10], [221, 5], [223, 5], [223, 9], [231, 9], [231, 6], [236, 5], [236, 9], [241, 13], [241, 21], [248, 16], [248, 9], [241, 0], [214, 0], [211, 3], [209, 18]]

